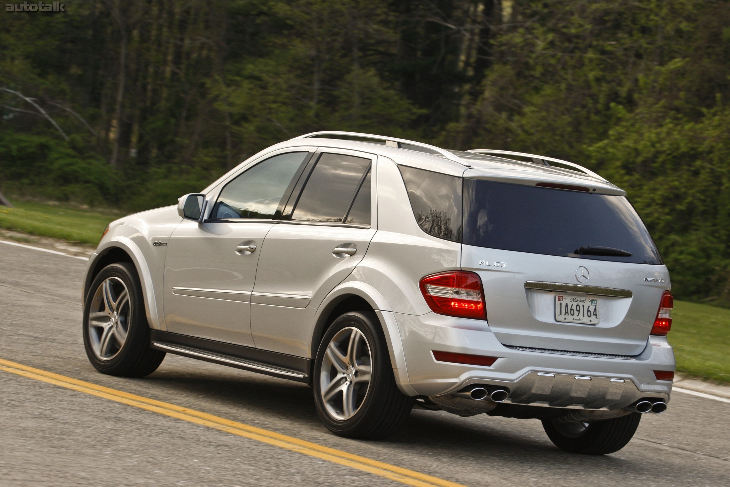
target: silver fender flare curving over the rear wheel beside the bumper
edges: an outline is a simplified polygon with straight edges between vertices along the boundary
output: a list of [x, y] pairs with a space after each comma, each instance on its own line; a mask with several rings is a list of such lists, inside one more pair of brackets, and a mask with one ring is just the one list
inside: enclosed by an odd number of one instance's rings
[[[418, 393], [411, 387], [410, 380], [408, 379], [403, 342], [401, 341], [401, 333], [395, 315], [393, 315], [385, 297], [377, 289], [372, 287], [372, 285], [353, 280], [340, 283], [330, 291], [321, 302], [315, 314], [315, 329], [312, 334], [312, 339], [321, 337], [321, 332], [326, 324], [329, 313], [347, 296], [358, 296], [370, 304], [377, 318], [380, 320], [380, 326], [383, 327], [385, 342], [388, 343], [388, 354], [391, 356], [393, 375], [395, 375], [398, 388], [407, 396], [418, 396]], [[314, 343], [312, 343], [312, 352], [312, 356], [314, 356]]]

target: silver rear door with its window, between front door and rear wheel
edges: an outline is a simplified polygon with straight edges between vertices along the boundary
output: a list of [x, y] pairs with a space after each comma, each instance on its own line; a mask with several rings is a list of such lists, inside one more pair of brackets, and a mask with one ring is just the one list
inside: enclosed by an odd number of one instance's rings
[[[257, 348], [308, 356], [315, 311], [353, 271], [375, 233], [375, 156], [316, 154], [281, 220], [266, 234], [251, 296]], [[292, 196], [292, 199], [294, 196]]]

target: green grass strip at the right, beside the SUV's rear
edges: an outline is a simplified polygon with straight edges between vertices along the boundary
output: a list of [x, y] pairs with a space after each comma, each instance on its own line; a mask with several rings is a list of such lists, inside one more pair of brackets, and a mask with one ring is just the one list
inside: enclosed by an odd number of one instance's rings
[[677, 372], [730, 383], [730, 310], [675, 301], [672, 318]]

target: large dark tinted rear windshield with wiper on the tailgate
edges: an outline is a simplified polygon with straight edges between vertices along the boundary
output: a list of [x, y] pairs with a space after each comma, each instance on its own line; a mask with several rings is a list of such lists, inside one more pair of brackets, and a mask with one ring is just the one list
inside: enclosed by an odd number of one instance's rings
[[[624, 196], [465, 179], [463, 228], [466, 245], [662, 264], [653, 239]], [[631, 256], [590, 255], [596, 247]]]

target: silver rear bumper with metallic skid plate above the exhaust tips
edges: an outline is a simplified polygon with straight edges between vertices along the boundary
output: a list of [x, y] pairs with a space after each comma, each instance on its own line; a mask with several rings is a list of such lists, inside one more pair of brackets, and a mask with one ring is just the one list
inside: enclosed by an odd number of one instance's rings
[[[665, 337], [650, 337], [645, 350], [631, 358], [573, 355], [506, 347], [483, 321], [432, 312], [395, 316], [410, 386], [423, 396], [478, 383], [509, 389], [505, 402], [613, 410], [645, 397], [666, 402], [672, 391], [672, 382], [656, 380], [653, 372], [675, 369]], [[491, 367], [452, 364], [436, 361], [431, 350], [499, 358]]]

